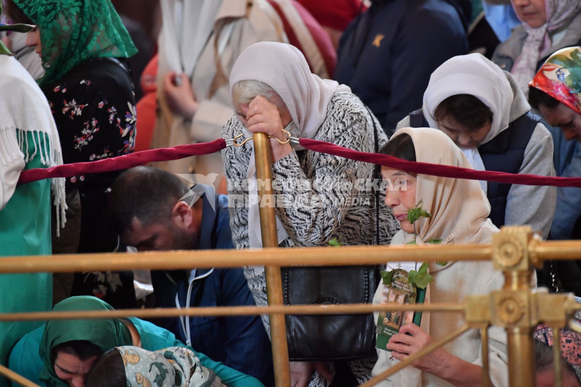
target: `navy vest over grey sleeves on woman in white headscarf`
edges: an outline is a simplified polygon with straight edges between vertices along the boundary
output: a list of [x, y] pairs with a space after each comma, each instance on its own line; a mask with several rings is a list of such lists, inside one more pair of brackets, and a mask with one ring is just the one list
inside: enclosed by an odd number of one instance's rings
[[[525, 149], [529, 144], [537, 124], [541, 119], [535, 114], [526, 113], [512, 121], [508, 128], [495, 138], [478, 147], [478, 152], [486, 171], [519, 173], [525, 157]], [[429, 128], [422, 110], [410, 114], [412, 128]], [[490, 201], [490, 220], [497, 227], [504, 225], [504, 214], [507, 208], [508, 191], [511, 184], [488, 182], [486, 196]]]

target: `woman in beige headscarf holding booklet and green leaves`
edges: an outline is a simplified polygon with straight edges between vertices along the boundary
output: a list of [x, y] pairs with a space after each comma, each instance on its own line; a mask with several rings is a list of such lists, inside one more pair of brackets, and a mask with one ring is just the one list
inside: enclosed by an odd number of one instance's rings
[[[462, 151], [443, 132], [429, 128], [403, 128], [397, 131], [382, 153], [408, 161], [430, 162], [472, 168]], [[406, 190], [388, 190], [385, 203], [392, 208], [400, 222], [401, 231], [391, 244], [425, 244], [441, 239], [442, 244], [490, 243], [496, 226], [487, 218], [490, 204], [477, 180], [415, 175], [393, 168], [382, 167], [383, 179], [406, 179]], [[407, 220], [408, 209], [415, 206], [429, 212], [413, 223]], [[420, 265], [421, 262], [418, 262]], [[393, 263], [390, 264], [393, 266]], [[503, 284], [500, 272], [490, 262], [432, 263], [429, 273], [433, 282], [428, 285], [426, 302], [461, 302], [475, 294], [488, 294]], [[375, 294], [374, 303], [381, 301], [383, 284]], [[377, 315], [376, 315], [377, 316]], [[397, 361], [417, 353], [433, 340], [460, 328], [464, 324], [458, 313], [437, 313], [430, 319], [422, 315], [421, 327], [410, 323], [393, 335], [386, 349], [378, 350], [378, 362], [372, 375], [381, 374]], [[508, 386], [506, 345], [504, 332], [490, 328], [490, 380], [496, 387]], [[381, 386], [478, 386], [482, 377], [480, 335], [469, 331], [455, 341], [433, 351], [401, 372], [386, 379]]]

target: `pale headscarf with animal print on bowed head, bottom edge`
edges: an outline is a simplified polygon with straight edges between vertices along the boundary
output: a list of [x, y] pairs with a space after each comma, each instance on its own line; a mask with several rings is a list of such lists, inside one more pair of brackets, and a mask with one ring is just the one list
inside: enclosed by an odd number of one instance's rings
[[123, 359], [127, 387], [224, 387], [214, 371], [202, 366], [188, 348], [155, 352], [135, 346], [116, 349]]

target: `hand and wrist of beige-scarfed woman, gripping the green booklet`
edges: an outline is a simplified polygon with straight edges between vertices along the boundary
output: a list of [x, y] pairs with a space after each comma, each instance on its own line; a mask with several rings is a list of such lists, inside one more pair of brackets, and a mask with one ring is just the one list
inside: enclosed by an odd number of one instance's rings
[[[409, 333], [410, 335], [407, 335]], [[411, 355], [424, 349], [432, 342], [432, 337], [422, 331], [418, 325], [406, 324], [400, 328], [397, 335], [389, 339], [387, 348], [392, 350], [392, 356], [397, 360], [406, 360]], [[454, 356], [443, 348], [433, 350], [429, 355], [415, 361], [412, 365], [418, 370], [433, 375], [443, 375], [446, 368], [451, 366]]]

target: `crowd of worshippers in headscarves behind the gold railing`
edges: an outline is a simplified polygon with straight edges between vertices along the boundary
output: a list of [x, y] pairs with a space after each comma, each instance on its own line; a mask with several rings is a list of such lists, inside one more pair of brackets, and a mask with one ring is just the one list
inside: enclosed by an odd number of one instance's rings
[[[160, 0], [155, 54], [110, 0], [1, 1], [0, 257], [261, 248], [252, 141], [18, 184], [26, 169], [254, 133], [270, 137], [281, 248], [489, 244], [505, 225], [581, 238], [579, 188], [423, 175], [289, 142], [581, 177], [579, 0]], [[284, 268], [284, 301], [381, 304], [383, 273], [406, 265]], [[503, 284], [490, 262], [413, 265], [431, 279], [424, 292], [410, 282], [426, 303]], [[535, 279], [581, 296], [580, 276], [578, 262], [547, 262]], [[262, 266], [0, 275], [0, 313], [267, 304]], [[288, 316], [293, 387], [359, 385], [464, 324], [393, 316], [385, 342], [378, 313]], [[535, 339], [537, 385], [553, 385], [553, 330]], [[560, 339], [565, 385], [581, 387], [581, 335]], [[508, 386], [504, 331], [488, 340], [489, 385]], [[480, 345], [461, 335], [379, 385], [479, 385]], [[46, 387], [275, 385], [266, 315], [0, 322], [0, 365]]]

